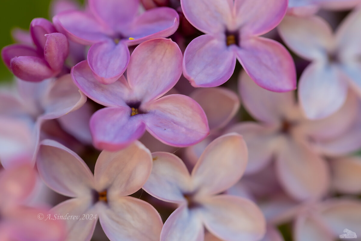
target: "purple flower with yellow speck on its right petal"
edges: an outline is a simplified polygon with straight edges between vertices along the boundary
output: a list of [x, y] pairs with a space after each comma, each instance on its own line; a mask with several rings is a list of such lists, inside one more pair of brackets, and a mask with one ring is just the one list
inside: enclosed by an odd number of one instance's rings
[[128, 46], [170, 36], [179, 25], [171, 8], [151, 9], [138, 16], [139, 0], [89, 0], [90, 12], [68, 11], [53, 18], [55, 26], [81, 44], [91, 44], [88, 64], [94, 77], [113, 83], [129, 63]]

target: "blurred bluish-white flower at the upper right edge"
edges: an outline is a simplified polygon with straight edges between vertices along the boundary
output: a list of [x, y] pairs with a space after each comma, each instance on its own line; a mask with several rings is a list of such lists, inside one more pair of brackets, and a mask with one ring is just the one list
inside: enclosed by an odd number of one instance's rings
[[301, 107], [310, 119], [320, 119], [343, 106], [350, 88], [361, 93], [361, 10], [351, 13], [335, 34], [320, 17], [287, 16], [278, 26], [283, 40], [301, 57], [312, 61], [299, 82]]

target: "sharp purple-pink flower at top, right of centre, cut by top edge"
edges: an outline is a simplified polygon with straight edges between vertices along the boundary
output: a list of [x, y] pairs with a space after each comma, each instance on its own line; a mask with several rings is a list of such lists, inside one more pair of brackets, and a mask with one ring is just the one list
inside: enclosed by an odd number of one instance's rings
[[187, 20], [206, 33], [184, 52], [183, 74], [195, 87], [213, 87], [232, 75], [236, 59], [261, 87], [284, 92], [296, 88], [290, 53], [278, 42], [259, 37], [274, 29], [287, 0], [182, 0]]

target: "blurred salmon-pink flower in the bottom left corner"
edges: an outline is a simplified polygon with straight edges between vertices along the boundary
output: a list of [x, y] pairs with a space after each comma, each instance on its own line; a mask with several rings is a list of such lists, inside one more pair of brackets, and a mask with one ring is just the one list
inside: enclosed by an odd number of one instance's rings
[[[39, 214], [53, 215], [46, 208], [24, 206], [36, 183], [31, 165], [20, 165], [0, 171], [0, 240], [63, 241], [61, 220], [45, 220]], [[40, 216], [42, 217], [42, 216]]]

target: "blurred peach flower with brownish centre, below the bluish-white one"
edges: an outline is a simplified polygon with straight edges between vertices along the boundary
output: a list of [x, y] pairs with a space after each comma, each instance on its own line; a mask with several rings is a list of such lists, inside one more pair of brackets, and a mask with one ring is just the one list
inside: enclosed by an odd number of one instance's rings
[[257, 86], [246, 73], [240, 75], [242, 103], [259, 121], [241, 122], [228, 132], [242, 134], [247, 142], [247, 173], [255, 173], [275, 159], [280, 184], [293, 198], [317, 199], [329, 188], [325, 159], [312, 143], [342, 137], [352, 126], [359, 107], [350, 92], [348, 101], [334, 115], [308, 120], [295, 102], [293, 92], [275, 93]]

